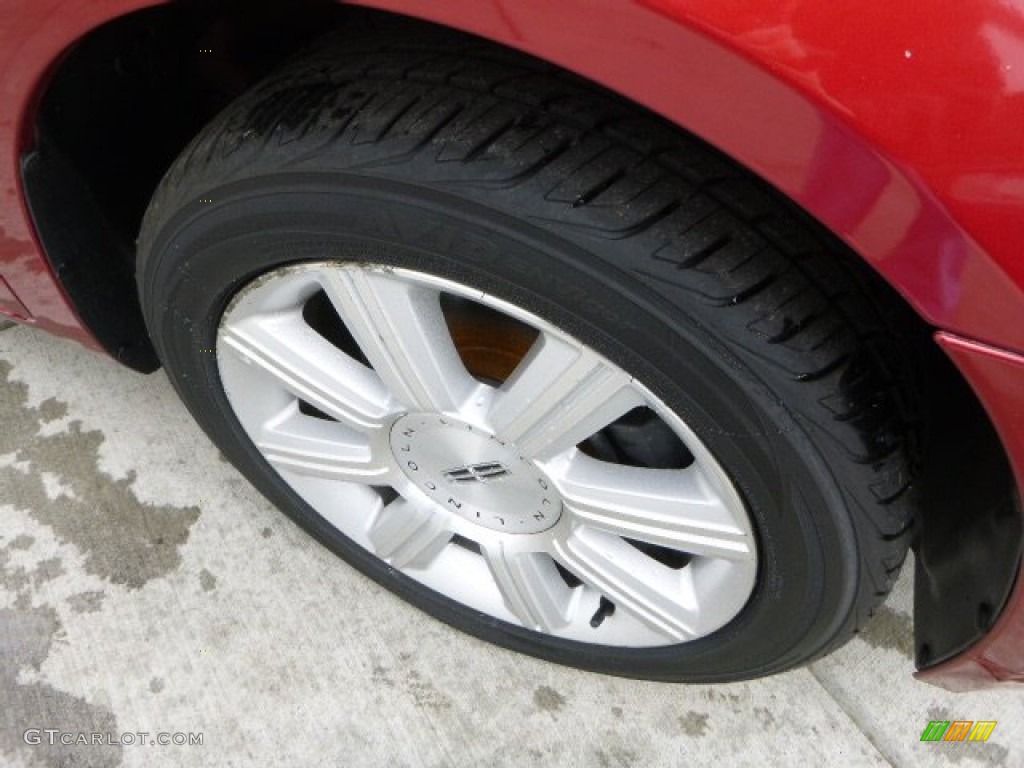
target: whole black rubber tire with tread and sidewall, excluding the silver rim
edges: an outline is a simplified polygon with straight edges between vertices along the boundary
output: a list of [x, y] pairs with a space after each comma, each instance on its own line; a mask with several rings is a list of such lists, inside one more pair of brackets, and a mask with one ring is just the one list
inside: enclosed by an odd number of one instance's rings
[[[671, 647], [585, 645], [471, 611], [326, 524], [245, 436], [203, 351], [241, 286], [325, 257], [486, 291], [643, 381], [744, 497], [761, 569], [746, 607]], [[331, 40], [216, 119], [153, 200], [138, 288], [200, 424], [349, 563], [515, 650], [709, 682], [845, 642], [905, 556], [913, 392], [887, 309], [849, 259], [765, 184], [664, 122], [525, 57], [418, 32]]]

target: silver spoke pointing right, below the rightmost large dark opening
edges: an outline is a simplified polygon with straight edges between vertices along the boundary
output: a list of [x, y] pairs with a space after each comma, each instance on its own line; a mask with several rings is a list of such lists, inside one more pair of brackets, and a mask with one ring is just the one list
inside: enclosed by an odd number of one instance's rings
[[696, 466], [643, 469], [578, 454], [555, 483], [585, 525], [692, 555], [754, 557], [751, 535]]

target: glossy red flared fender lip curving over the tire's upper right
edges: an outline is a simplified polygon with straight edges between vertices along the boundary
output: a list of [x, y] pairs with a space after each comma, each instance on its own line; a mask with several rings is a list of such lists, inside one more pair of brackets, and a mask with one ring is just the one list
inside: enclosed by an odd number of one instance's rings
[[[495, 40], [626, 96], [783, 193], [870, 263], [930, 325], [980, 340], [1024, 344], [1024, 335], [1000, 339], [993, 318], [974, 308], [997, 301], [1024, 313], [1024, 293], [923, 176], [891, 157], [881, 143], [880, 126], [826, 87], [829, 72], [815, 73], [818, 82], [812, 83], [806, 73], [774, 60], [772, 48], [738, 33], [742, 24], [726, 23], [732, 14], [750, 25], [785, 28], [784, 11], [678, 0], [615, 3], [600, 13], [587, 0], [354, 4]], [[885, 26], [885, 16], [871, 23]], [[794, 46], [805, 44], [794, 29], [785, 31], [794, 36]], [[825, 58], [819, 54], [817, 62]], [[861, 66], [838, 55], [834, 59], [834, 70]]]

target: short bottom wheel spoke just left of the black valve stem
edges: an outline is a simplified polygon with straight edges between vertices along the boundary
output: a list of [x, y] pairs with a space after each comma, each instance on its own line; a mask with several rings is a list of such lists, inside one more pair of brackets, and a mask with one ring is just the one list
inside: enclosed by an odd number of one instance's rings
[[510, 553], [501, 543], [484, 548], [483, 556], [505, 605], [523, 627], [553, 632], [568, 623], [572, 592], [550, 556]]

